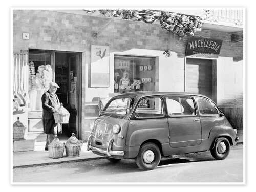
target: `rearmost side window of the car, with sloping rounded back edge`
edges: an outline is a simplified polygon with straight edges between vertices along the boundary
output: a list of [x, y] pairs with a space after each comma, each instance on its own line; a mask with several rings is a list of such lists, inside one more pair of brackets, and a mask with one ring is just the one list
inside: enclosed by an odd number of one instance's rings
[[197, 98], [198, 108], [199, 112], [202, 115], [217, 115], [218, 110], [215, 107], [215, 104], [203, 99], [203, 98]]

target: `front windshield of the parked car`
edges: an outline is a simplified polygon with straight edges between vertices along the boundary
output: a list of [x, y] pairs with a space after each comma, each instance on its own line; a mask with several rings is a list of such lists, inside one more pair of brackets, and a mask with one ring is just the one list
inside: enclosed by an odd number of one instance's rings
[[109, 114], [118, 117], [125, 118], [132, 111], [134, 105], [134, 98], [118, 98], [108, 103], [101, 114]]

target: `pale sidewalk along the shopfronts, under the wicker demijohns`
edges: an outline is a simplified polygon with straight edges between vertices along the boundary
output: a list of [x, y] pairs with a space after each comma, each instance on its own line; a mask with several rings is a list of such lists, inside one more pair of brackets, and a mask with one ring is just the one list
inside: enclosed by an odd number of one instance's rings
[[[243, 143], [243, 133], [238, 133], [238, 143]], [[65, 140], [65, 138], [63, 138]], [[60, 139], [62, 141], [62, 139]], [[63, 142], [63, 141], [62, 141]], [[59, 159], [52, 159], [49, 157], [48, 151], [45, 149], [45, 141], [36, 141], [35, 150], [27, 152], [13, 152], [13, 168], [31, 167], [39, 165], [50, 165], [66, 162], [90, 161], [95, 159], [104, 159], [105, 157], [96, 155], [86, 149], [87, 143], [83, 143], [81, 154], [79, 157], [67, 157], [64, 152], [64, 157]]]

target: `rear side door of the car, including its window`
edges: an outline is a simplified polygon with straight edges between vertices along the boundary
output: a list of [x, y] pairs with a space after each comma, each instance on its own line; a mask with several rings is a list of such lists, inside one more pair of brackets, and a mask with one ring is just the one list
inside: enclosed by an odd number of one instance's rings
[[172, 148], [199, 145], [201, 123], [195, 100], [189, 96], [167, 96], [169, 144]]

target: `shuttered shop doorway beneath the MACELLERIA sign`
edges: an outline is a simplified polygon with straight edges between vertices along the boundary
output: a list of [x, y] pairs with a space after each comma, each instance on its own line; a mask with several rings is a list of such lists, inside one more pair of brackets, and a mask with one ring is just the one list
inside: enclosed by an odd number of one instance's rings
[[186, 58], [186, 92], [200, 93], [216, 101], [215, 60]]

